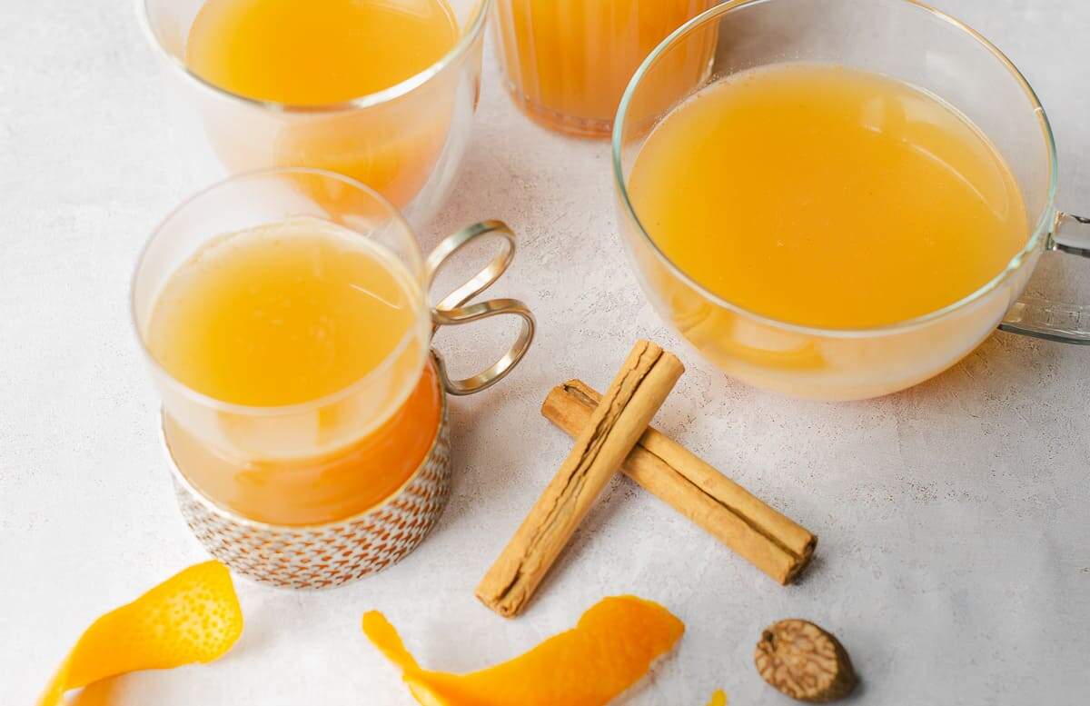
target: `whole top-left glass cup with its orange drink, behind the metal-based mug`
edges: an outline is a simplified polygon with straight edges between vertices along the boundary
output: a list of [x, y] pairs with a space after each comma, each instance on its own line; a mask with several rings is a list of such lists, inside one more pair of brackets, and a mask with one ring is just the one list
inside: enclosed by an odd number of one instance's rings
[[[146, 0], [183, 134], [228, 172], [322, 168], [434, 215], [468, 141], [476, 0]], [[199, 150], [198, 150], [199, 151]]]

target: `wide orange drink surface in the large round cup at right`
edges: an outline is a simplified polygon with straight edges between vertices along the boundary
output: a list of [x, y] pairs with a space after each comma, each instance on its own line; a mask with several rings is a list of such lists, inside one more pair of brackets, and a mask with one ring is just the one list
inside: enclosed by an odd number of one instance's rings
[[[708, 291], [823, 328], [941, 309], [1028, 236], [1015, 179], [974, 125], [911, 86], [835, 65], [764, 68], [702, 90], [649, 136], [629, 195], [655, 244]], [[821, 364], [803, 353], [791, 362]]]

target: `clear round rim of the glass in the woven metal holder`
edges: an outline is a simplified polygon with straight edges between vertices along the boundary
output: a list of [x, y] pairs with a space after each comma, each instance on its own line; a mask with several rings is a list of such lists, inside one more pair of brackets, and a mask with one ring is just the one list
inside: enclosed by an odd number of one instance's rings
[[[331, 172], [324, 169], [313, 169], [308, 167], [269, 167], [266, 169], [256, 169], [247, 172], [242, 172], [239, 174], [231, 174], [225, 179], [221, 179], [216, 183], [211, 184], [210, 186], [206, 186], [201, 191], [196, 192], [195, 194], [185, 198], [181, 204], [172, 208], [170, 212], [167, 214], [167, 216], [162, 218], [154, 229], [152, 229], [152, 234], [144, 242], [144, 245], [141, 247], [140, 255], [136, 257], [136, 266], [133, 269], [132, 279], [129, 284], [130, 322], [132, 324], [133, 332], [136, 334], [136, 340], [140, 343], [141, 353], [144, 356], [145, 363], [149, 366], [152, 374], [155, 377], [167, 380], [171, 387], [177, 389], [182, 395], [184, 395], [190, 401], [195, 402], [201, 406], [216, 410], [218, 412], [229, 412], [231, 414], [244, 415], [250, 417], [275, 417], [275, 416], [289, 416], [292, 414], [307, 413], [319, 407], [328, 406], [330, 404], [336, 404], [337, 402], [340, 402], [341, 400], [351, 397], [352, 394], [358, 392], [361, 388], [366, 387], [368, 382], [371, 382], [372, 380], [379, 377], [383, 373], [385, 373], [400, 357], [401, 353], [404, 352], [405, 348], [411, 343], [413, 338], [416, 338], [416, 334], [420, 333], [420, 331], [423, 331], [425, 333], [422, 337], [423, 345], [421, 346], [420, 369], [423, 370], [424, 365], [427, 363], [427, 351], [429, 348], [428, 346], [429, 336], [427, 334], [427, 331], [431, 330], [429, 315], [427, 317], [427, 321], [423, 326], [420, 326], [420, 322], [417, 321], [417, 326], [410, 327], [404, 332], [404, 336], [401, 337], [401, 340], [398, 341], [397, 345], [390, 349], [390, 352], [386, 354], [386, 357], [383, 358], [382, 363], [379, 363], [377, 366], [368, 370], [359, 379], [353, 380], [352, 382], [340, 388], [339, 390], [334, 390], [332, 392], [324, 394], [319, 398], [315, 398], [313, 400], [306, 400], [305, 402], [261, 406], [261, 405], [239, 404], [237, 402], [228, 402], [226, 400], [220, 400], [209, 394], [205, 394], [199, 390], [195, 390], [185, 382], [182, 382], [177, 377], [174, 377], [167, 368], [162, 366], [162, 364], [159, 363], [159, 361], [155, 357], [155, 355], [152, 354], [147, 341], [144, 338], [143, 327], [141, 326], [141, 321], [136, 316], [136, 282], [140, 278], [141, 270], [144, 267], [144, 260], [147, 256], [147, 252], [148, 249], [150, 249], [152, 244], [155, 243], [156, 240], [161, 234], [164, 227], [167, 223], [169, 223], [173, 218], [175, 218], [179, 214], [181, 214], [184, 209], [193, 206], [201, 198], [207, 196], [208, 194], [223, 186], [250, 179], [274, 176], [278, 174], [313, 174], [316, 176], [335, 179], [347, 184], [349, 187], [356, 188], [358, 191], [363, 192], [367, 196], [373, 197], [376, 202], [378, 202], [378, 204], [384, 209], [389, 211], [391, 220], [393, 220], [393, 222], [400, 226], [405, 233], [411, 235], [412, 251], [415, 254], [417, 260], [415, 267], [417, 271], [410, 272], [410, 275], [412, 275], [413, 279], [415, 280], [420, 295], [420, 303], [422, 304], [421, 307], [422, 311], [429, 312], [429, 306], [427, 304], [427, 292], [424, 289], [425, 287], [424, 270], [423, 270], [424, 260], [420, 252], [420, 244], [416, 242], [416, 232], [404, 220], [404, 217], [401, 215], [401, 211], [399, 211], [397, 207], [393, 206], [393, 204], [391, 204], [385, 196], [379, 194], [374, 188], [371, 188], [366, 184], [359, 182], [352, 179], [351, 176], [346, 176], [344, 174], [339, 174], [337, 172]], [[215, 238], [215, 234], [213, 235], [213, 238]], [[158, 293], [156, 293], [156, 297], [157, 296]], [[154, 305], [154, 300], [153, 300], [153, 305]], [[407, 386], [405, 397], [412, 393], [414, 386], [415, 382], [413, 384], [413, 386]]]

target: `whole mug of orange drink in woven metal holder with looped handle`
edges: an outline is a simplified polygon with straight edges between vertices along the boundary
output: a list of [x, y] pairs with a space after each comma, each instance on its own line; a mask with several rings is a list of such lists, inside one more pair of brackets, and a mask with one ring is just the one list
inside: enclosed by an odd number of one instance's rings
[[[302, 169], [233, 178], [160, 226], [133, 315], [183, 513], [213, 553], [276, 585], [331, 585], [423, 537], [449, 476], [445, 389], [464, 391], [429, 352], [433, 319], [481, 318], [461, 302], [433, 313], [428, 282], [488, 230], [452, 236], [425, 261], [377, 193]], [[532, 324], [517, 302], [486, 304]], [[337, 551], [348, 552], [340, 563], [322, 559]], [[323, 562], [334, 579], [306, 573]]]

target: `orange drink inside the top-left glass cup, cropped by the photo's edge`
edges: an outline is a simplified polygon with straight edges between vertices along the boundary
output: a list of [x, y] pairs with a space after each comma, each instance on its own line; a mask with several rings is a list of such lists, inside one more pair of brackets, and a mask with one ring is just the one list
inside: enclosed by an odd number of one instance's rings
[[[232, 94], [290, 106], [351, 101], [440, 61], [460, 39], [446, 0], [207, 0], [189, 69]], [[404, 208], [450, 131], [459, 73], [368, 108], [283, 114], [207, 101], [208, 139], [229, 171], [313, 167], [358, 179]]]

